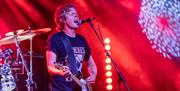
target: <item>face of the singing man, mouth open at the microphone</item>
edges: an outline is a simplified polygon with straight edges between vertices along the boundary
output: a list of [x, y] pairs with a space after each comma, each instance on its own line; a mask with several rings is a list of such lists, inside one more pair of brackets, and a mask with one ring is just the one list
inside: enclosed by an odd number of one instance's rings
[[66, 12], [65, 14], [65, 26], [69, 27], [69, 28], [79, 28], [79, 24], [75, 23], [75, 21], [79, 20], [79, 16], [77, 14], [77, 11], [75, 8], [69, 8], [69, 12]]

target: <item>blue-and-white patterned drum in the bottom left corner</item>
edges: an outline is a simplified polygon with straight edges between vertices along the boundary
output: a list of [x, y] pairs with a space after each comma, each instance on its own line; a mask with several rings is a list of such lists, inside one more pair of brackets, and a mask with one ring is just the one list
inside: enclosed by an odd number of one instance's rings
[[8, 64], [3, 64], [1, 71], [1, 87], [2, 91], [11, 91], [16, 88], [16, 83]]

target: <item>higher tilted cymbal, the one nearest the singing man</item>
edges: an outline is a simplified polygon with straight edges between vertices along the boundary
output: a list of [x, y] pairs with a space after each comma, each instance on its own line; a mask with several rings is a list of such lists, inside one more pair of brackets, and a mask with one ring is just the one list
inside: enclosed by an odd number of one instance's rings
[[39, 35], [42, 33], [46, 33], [49, 32], [51, 30], [51, 28], [40, 28], [40, 29], [32, 29], [32, 30], [26, 30], [24, 31], [22, 34], [35, 34], [35, 35]]

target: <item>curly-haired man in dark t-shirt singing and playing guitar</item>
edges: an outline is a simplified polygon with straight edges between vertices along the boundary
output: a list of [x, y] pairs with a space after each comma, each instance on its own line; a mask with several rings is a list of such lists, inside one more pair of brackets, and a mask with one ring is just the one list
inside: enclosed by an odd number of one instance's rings
[[[87, 64], [89, 77], [86, 83], [94, 83], [97, 67], [91, 55], [91, 50], [86, 39], [77, 34], [80, 26], [79, 16], [73, 4], [65, 4], [55, 12], [55, 32], [51, 34], [46, 44], [46, 61], [50, 73], [51, 91], [77, 91], [71, 74], [81, 74], [82, 63]], [[72, 52], [70, 52], [72, 49]], [[72, 54], [71, 54], [72, 53]], [[75, 60], [73, 60], [75, 59]], [[63, 65], [64, 69], [57, 69], [55, 63]]]

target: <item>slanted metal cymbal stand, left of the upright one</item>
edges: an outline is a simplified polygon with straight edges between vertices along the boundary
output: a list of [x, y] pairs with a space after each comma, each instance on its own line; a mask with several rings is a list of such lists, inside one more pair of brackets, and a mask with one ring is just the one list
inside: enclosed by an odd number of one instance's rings
[[19, 55], [20, 55], [20, 57], [22, 59], [22, 64], [24, 65], [24, 68], [25, 68], [25, 70], [27, 72], [27, 77], [28, 78], [26, 80], [26, 87], [27, 87], [28, 91], [31, 91], [30, 87], [31, 87], [33, 81], [30, 79], [30, 77], [32, 76], [32, 73], [29, 71], [28, 66], [26, 64], [26, 61], [24, 59], [22, 50], [20, 48], [20, 42], [18, 41], [17, 35], [15, 35], [14, 37], [15, 37], [15, 42], [16, 42], [15, 44], [16, 44], [16, 47], [17, 47], [17, 51], [19, 52]]

